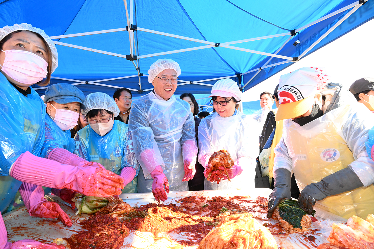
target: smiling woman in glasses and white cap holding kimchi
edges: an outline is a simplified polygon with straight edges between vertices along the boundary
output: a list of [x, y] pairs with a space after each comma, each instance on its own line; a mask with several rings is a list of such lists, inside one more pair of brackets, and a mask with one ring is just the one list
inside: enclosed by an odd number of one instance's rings
[[[258, 155], [258, 134], [252, 127], [257, 122], [235, 109], [241, 101], [242, 92], [231, 79], [218, 80], [212, 87], [211, 103], [216, 113], [202, 119], [199, 126], [199, 162], [205, 168], [205, 177], [211, 172], [206, 169], [210, 156], [219, 150], [227, 150], [233, 161], [232, 169], [219, 176], [220, 184], [205, 178], [204, 190], [254, 188], [255, 159]], [[214, 173], [214, 172], [212, 172]]]

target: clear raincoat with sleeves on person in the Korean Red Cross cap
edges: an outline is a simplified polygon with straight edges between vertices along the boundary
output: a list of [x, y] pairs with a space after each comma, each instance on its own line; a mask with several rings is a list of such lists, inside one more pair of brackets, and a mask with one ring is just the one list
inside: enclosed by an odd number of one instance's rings
[[374, 162], [365, 148], [373, 124], [373, 114], [357, 102], [328, 111], [303, 126], [285, 120], [283, 136], [275, 148], [273, 172], [278, 168], [293, 172], [301, 191], [312, 182], [350, 167], [364, 187], [317, 203], [344, 218], [357, 215], [366, 219], [374, 212]]

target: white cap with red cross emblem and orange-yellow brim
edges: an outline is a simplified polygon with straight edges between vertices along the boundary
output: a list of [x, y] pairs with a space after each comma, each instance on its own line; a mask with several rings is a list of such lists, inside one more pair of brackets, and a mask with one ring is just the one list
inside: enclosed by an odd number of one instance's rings
[[325, 89], [328, 75], [324, 67], [303, 67], [279, 79], [279, 108], [275, 120], [291, 119], [306, 113], [317, 92]]

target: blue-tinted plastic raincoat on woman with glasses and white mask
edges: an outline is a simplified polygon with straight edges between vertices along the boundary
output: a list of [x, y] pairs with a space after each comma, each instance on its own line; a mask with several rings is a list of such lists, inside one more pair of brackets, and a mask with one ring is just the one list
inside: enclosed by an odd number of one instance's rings
[[139, 163], [135, 157], [134, 144], [128, 125], [114, 120], [113, 128], [100, 136], [88, 125], [79, 130], [74, 137], [74, 154], [89, 162], [100, 163], [105, 169], [117, 175], [123, 167], [132, 167], [137, 171], [134, 179], [122, 190], [122, 193], [137, 193], [137, 175]]

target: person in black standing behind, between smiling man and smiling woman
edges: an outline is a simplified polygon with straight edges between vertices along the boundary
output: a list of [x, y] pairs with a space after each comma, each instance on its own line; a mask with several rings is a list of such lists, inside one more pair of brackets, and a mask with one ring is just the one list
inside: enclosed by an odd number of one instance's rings
[[[188, 104], [190, 104], [191, 107], [191, 113], [194, 116], [195, 120], [195, 130], [196, 130], [196, 141], [197, 141], [197, 128], [200, 124], [200, 119], [196, 117], [196, 115], [199, 113], [199, 104], [197, 104], [195, 97], [192, 93], [183, 93], [181, 96], [179, 96], [180, 99], [183, 99], [184, 101], [187, 101]], [[197, 144], [199, 142], [197, 141]], [[198, 160], [196, 160], [196, 173], [193, 179], [188, 181], [188, 188], [190, 191], [195, 190], [204, 190], [204, 167], [199, 163]]]

